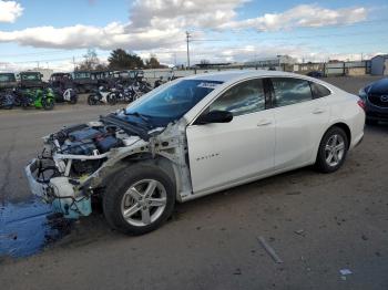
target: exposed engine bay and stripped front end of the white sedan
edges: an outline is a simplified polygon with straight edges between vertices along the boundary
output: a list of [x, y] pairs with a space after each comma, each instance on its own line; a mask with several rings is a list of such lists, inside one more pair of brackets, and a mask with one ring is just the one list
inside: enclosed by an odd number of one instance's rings
[[64, 127], [43, 137], [41, 155], [25, 167], [30, 188], [67, 218], [88, 216], [91, 197], [103, 190], [115, 170], [139, 159], [163, 158], [180, 178], [180, 190], [188, 193], [187, 146], [180, 132], [184, 130], [178, 123], [147, 130], [125, 122], [119, 113]]

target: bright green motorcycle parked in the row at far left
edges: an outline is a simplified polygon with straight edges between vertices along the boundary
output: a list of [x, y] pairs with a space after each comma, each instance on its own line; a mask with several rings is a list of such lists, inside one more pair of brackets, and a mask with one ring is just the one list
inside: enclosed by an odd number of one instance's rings
[[35, 108], [52, 110], [54, 107], [55, 95], [53, 91], [48, 89], [19, 89], [16, 92], [18, 103], [23, 108], [33, 106]]

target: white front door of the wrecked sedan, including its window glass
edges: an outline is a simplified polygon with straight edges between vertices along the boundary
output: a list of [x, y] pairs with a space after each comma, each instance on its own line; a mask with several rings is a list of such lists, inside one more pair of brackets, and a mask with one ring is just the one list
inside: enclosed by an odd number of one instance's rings
[[275, 120], [261, 79], [228, 89], [206, 110], [228, 111], [229, 123], [186, 130], [194, 194], [238, 183], [274, 167]]

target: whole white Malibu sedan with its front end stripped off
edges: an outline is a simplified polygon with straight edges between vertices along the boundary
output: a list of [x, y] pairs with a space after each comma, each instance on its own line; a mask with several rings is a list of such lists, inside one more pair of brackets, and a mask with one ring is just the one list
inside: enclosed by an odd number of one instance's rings
[[202, 74], [44, 137], [25, 167], [34, 195], [65, 217], [103, 205], [141, 235], [187, 201], [315, 164], [337, 170], [364, 135], [364, 102], [320, 80], [274, 71]]

